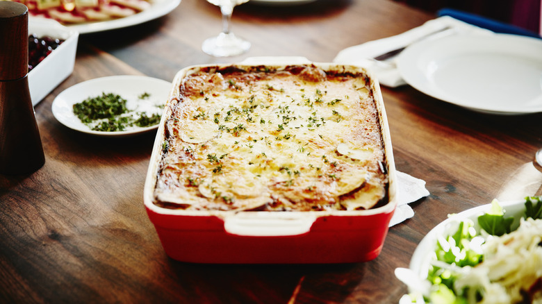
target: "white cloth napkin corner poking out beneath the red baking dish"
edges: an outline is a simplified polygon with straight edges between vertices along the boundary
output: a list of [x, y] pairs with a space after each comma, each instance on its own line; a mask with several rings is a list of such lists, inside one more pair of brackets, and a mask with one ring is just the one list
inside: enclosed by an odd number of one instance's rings
[[408, 205], [429, 195], [425, 189], [425, 181], [397, 171], [397, 208], [391, 218], [389, 226], [397, 225], [414, 216], [414, 210]]

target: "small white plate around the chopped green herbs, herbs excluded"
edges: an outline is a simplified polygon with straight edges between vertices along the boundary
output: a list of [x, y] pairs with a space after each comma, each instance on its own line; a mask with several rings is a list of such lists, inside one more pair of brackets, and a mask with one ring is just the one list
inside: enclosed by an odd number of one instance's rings
[[138, 96], [147, 92], [150, 94], [149, 101], [165, 105], [170, 94], [171, 83], [157, 78], [146, 76], [110, 76], [95, 78], [90, 81], [78, 83], [67, 88], [53, 101], [52, 111], [54, 117], [60, 122], [83, 133], [100, 136], [126, 136], [156, 130], [158, 124], [146, 128], [135, 128], [118, 132], [104, 132], [90, 130], [81, 120], [74, 115], [73, 105], [80, 103], [89, 97], [99, 96], [101, 93], [114, 93], [120, 95], [128, 102], [138, 99]]

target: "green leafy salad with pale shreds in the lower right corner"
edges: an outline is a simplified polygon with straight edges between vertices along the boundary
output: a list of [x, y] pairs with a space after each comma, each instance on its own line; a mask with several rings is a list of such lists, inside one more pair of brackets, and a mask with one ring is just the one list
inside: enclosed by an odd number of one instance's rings
[[[439, 236], [427, 280], [412, 303], [542, 303], [542, 198], [525, 198], [518, 228], [498, 201], [477, 218]], [[403, 299], [402, 299], [403, 300]], [[402, 301], [401, 303], [404, 303]]]

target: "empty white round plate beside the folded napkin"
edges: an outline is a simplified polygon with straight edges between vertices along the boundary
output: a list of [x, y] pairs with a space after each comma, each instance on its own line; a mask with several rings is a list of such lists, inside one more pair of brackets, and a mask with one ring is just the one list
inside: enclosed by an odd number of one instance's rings
[[542, 40], [453, 35], [407, 47], [404, 80], [436, 99], [495, 114], [542, 112]]

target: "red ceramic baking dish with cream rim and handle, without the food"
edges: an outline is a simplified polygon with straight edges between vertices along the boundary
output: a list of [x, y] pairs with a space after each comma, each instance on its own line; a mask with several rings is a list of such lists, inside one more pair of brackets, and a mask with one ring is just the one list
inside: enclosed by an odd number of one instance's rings
[[[294, 61], [299, 63], [298, 60]], [[256, 60], [254, 65], [262, 65], [262, 62]], [[396, 205], [395, 164], [379, 84], [359, 67], [331, 63], [314, 65], [325, 71], [362, 71], [370, 79], [384, 140], [389, 179], [388, 203], [369, 210], [318, 212], [188, 211], [161, 208], [153, 203], [153, 193], [162, 143], [165, 140], [165, 117], [170, 114], [166, 106], [151, 154], [144, 202], [167, 255], [183, 262], [251, 264], [364, 262], [379, 255]], [[282, 66], [286, 66], [286, 62], [277, 65], [275, 60], [269, 65], [270, 68]], [[179, 71], [170, 98], [179, 94], [179, 84], [187, 73], [202, 67], [187, 67]]]

